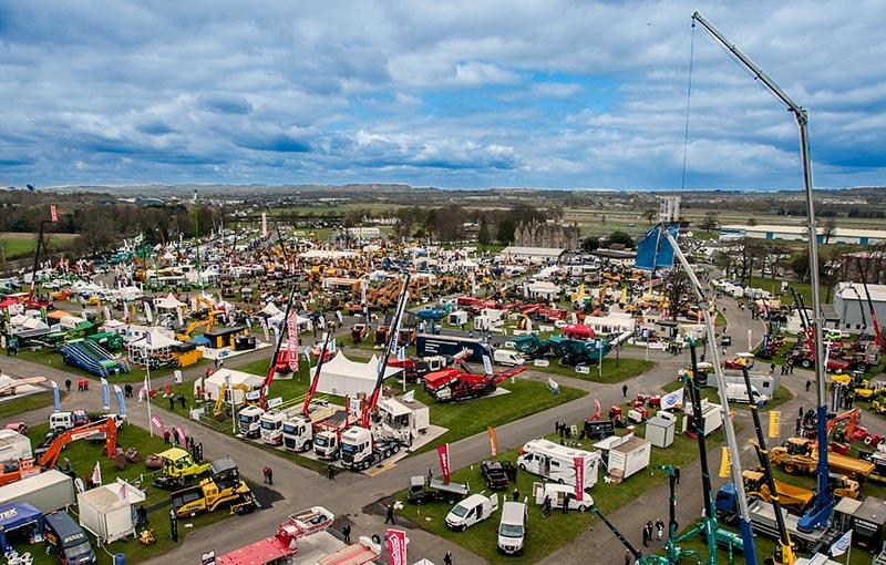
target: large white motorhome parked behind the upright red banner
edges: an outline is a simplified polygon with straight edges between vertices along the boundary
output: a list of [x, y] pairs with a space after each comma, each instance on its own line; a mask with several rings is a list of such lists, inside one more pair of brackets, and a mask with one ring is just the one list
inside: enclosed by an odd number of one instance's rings
[[602, 459], [597, 451], [567, 448], [545, 439], [532, 440], [521, 448], [517, 468], [556, 483], [575, 484], [574, 458], [585, 458], [585, 489], [591, 489], [597, 484]]

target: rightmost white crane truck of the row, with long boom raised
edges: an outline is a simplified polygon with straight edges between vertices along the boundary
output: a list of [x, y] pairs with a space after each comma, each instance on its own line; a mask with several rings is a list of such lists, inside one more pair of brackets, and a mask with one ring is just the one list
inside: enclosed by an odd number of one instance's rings
[[409, 279], [410, 275], [406, 274], [403, 281], [403, 291], [396, 305], [394, 319], [391, 322], [393, 331], [389, 337], [384, 355], [382, 355], [379, 362], [379, 374], [375, 379], [375, 388], [368, 400], [363, 402], [360, 413], [360, 424], [352, 425], [341, 433], [341, 464], [346, 469], [352, 470], [367, 470], [379, 461], [390, 458], [398, 453], [403, 444], [403, 440], [398, 436], [385, 436], [378, 433], [381, 430], [373, 430], [370, 427], [370, 414], [379, 403], [379, 396], [381, 394], [381, 386], [384, 382], [384, 373], [388, 369], [388, 360], [391, 357], [391, 351], [396, 351], [398, 336], [400, 335], [400, 323], [403, 319], [403, 311], [409, 301]]

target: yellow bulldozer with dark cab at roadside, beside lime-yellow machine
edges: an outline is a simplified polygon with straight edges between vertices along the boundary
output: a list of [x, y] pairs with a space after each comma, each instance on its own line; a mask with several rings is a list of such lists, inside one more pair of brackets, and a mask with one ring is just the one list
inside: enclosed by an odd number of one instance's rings
[[172, 506], [176, 516], [187, 517], [197, 513], [215, 512], [222, 507], [229, 507], [231, 514], [246, 514], [256, 508], [253, 491], [240, 479], [237, 463], [233, 459], [213, 461], [209, 473], [199, 485], [172, 494]]

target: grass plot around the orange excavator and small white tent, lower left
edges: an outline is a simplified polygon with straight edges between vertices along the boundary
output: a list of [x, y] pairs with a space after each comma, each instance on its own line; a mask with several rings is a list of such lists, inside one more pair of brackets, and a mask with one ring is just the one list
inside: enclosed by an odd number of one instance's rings
[[[32, 442], [37, 444], [42, 440], [48, 429], [49, 427], [45, 424], [33, 427], [28, 435], [31, 438]], [[151, 438], [146, 431], [135, 425], [125, 425], [119, 431], [117, 444], [124, 449], [135, 448], [142, 455], [157, 453], [168, 448], [168, 445], [163, 443], [162, 439]], [[137, 563], [159, 557], [179, 545], [187, 535], [195, 533], [199, 527], [231, 517], [227, 511], [220, 510], [210, 514], [197, 515], [188, 520], [179, 520], [178, 535], [181, 541], [175, 543], [169, 537], [169, 492], [155, 489], [151, 485], [151, 471], [145, 468], [144, 463], [127, 463], [124, 470], [119, 471], [116, 465], [105, 456], [104, 444], [89, 441], [70, 443], [59, 458], [59, 463], [63, 463], [64, 459], [71, 461], [71, 466], [76, 471], [78, 476], [91, 475], [95, 462], [97, 461], [102, 470], [102, 480], [105, 484], [113, 482], [116, 476], [132, 482], [137, 481], [140, 476], [144, 475], [144, 482], [142, 484], [142, 490], [146, 494], [144, 506], [148, 511], [150, 526], [154, 528], [157, 543], [145, 547], [134, 540], [117, 541], [105, 546], [107, 552], [110, 552], [109, 554], [97, 548], [93, 541], [92, 545], [99, 557], [100, 565], [111, 565], [113, 563], [112, 555], [115, 553], [125, 553], [127, 563]], [[193, 526], [187, 527], [186, 524], [192, 524]], [[34, 556], [34, 563], [39, 563], [40, 565], [56, 563], [53, 558], [45, 555], [42, 544], [39, 546], [19, 546], [17, 549], [19, 553], [30, 551], [31, 555]]]

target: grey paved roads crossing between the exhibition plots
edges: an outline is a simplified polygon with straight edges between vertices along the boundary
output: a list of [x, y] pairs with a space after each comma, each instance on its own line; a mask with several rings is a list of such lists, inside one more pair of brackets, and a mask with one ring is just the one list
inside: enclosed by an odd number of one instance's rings
[[[729, 333], [733, 336], [736, 345], [734, 350], [744, 350], [740, 347], [739, 336], [746, 336], [748, 330], [753, 331], [754, 339], [762, 336], [763, 327], [758, 320], [751, 320], [746, 310], [740, 311], [735, 302], [731, 299], [719, 301], [719, 306], [727, 309], [729, 321]], [[746, 343], [745, 343], [746, 345]], [[267, 350], [264, 352], [267, 356]], [[641, 350], [626, 349], [621, 353], [624, 357], [641, 357]], [[238, 358], [237, 363], [247, 362], [260, 358], [262, 352], [249, 353]], [[650, 359], [657, 361], [653, 369], [626, 381], [630, 392], [658, 392], [660, 388], [671, 382], [676, 377], [676, 371], [688, 363], [688, 355], [668, 356], [657, 351], [650, 351]], [[230, 362], [231, 366], [235, 362]], [[47, 374], [54, 379], [64, 380], [64, 373], [56, 369], [47, 369], [43, 366], [33, 364], [22, 360], [4, 362], [3, 367], [9, 372], [17, 376]], [[186, 379], [194, 379], [202, 372], [202, 369], [186, 371]], [[528, 378], [547, 379], [547, 374], [525, 373]], [[805, 393], [803, 383], [808, 378], [807, 373], [797, 370], [793, 377], [783, 379], [783, 383], [796, 394], [792, 401], [783, 404], [783, 412], [792, 414], [796, 412], [799, 405], [812, 405], [814, 399], [811, 393]], [[498, 441], [502, 446], [515, 446], [546, 434], [552, 431], [555, 420], [578, 422], [584, 420], [594, 407], [594, 400], [608, 407], [622, 400], [621, 383], [599, 384], [589, 381], [558, 377], [562, 384], [571, 386], [588, 390], [589, 396], [567, 402], [545, 412], [529, 415], [516, 422], [502, 425], [497, 429]], [[97, 408], [101, 403], [100, 392], [93, 389], [89, 393], [72, 393], [65, 400], [70, 407]], [[147, 414], [144, 404], [135, 404], [130, 408], [130, 421], [137, 425], [146, 425]], [[25, 421], [43, 422], [45, 410], [25, 414]], [[164, 420], [171, 424], [182, 423], [195, 435], [197, 441], [205, 445], [205, 453], [208, 459], [215, 459], [226, 454], [231, 454], [237, 460], [243, 473], [249, 479], [257, 481], [261, 476], [261, 468], [268, 464], [268, 455], [256, 446], [244, 443], [234, 438], [215, 433], [208, 429], [192, 425], [182, 415], [164, 412]], [[886, 433], [886, 425], [879, 419], [869, 419], [865, 424], [869, 429]], [[743, 431], [740, 434], [740, 442], [743, 445], [742, 460], [745, 464], [751, 463], [752, 451], [746, 446], [746, 439], [752, 433], [749, 412], [736, 411], [736, 421], [744, 422]], [[785, 421], [792, 421], [785, 418]], [[883, 430], [879, 430], [883, 428]], [[711, 449], [710, 459], [713, 464], [719, 462], [720, 448]], [[485, 433], [461, 440], [452, 445], [453, 466], [461, 468], [486, 458], [488, 454], [488, 440]], [[746, 459], [746, 461], [745, 461]], [[226, 521], [202, 528], [197, 535], [188, 536], [186, 543], [171, 554], [153, 559], [159, 563], [179, 559], [184, 563], [194, 563], [198, 556], [208, 551], [225, 552], [243, 545], [244, 543], [264, 537], [272, 532], [276, 524], [288, 513], [305, 506], [322, 504], [329, 507], [340, 518], [351, 521], [353, 535], [371, 535], [381, 533], [384, 530], [382, 516], [377, 513], [380, 506], [379, 500], [390, 496], [402, 490], [408, 482], [408, 477], [413, 474], [424, 474], [429, 468], [436, 465], [436, 458], [433, 452], [423, 453], [401, 461], [392, 470], [378, 476], [367, 477], [356, 473], [342, 473], [337, 476], [334, 482], [313, 471], [299, 468], [295, 464], [285, 463], [282, 460], [271, 460], [275, 466], [275, 489], [284, 496], [284, 500], [276, 503], [271, 508], [255, 513], [249, 516], [235, 518], [236, 522]], [[682, 470], [682, 484], [678, 487], [680, 503], [678, 505], [678, 520], [681, 524], [688, 524], [701, 513], [700, 493], [700, 470], [694, 463]], [[608, 487], [602, 483], [598, 487]], [[614, 513], [610, 520], [621, 528], [626, 535], [639, 544], [640, 528], [647, 520], [667, 517], [668, 499], [667, 485], [655, 489], [650, 493], [643, 494], [629, 506]], [[236, 525], [236, 535], [230, 535], [231, 525]], [[483, 563], [476, 555], [462, 549], [459, 546], [451, 546], [446, 542], [427, 534], [419, 528], [408, 527], [411, 540], [410, 555], [412, 558], [426, 556], [432, 561], [440, 561], [446, 549], [453, 551], [455, 562], [460, 564]], [[492, 542], [491, 542], [492, 543]], [[616, 542], [612, 535], [604, 527], [588, 531], [578, 537], [574, 543], [563, 547], [560, 551], [550, 555], [545, 563], [587, 563], [588, 551], [593, 551], [595, 562], [598, 563], [621, 563], [624, 549]], [[384, 559], [382, 559], [384, 561]]]

